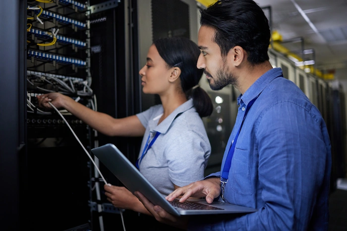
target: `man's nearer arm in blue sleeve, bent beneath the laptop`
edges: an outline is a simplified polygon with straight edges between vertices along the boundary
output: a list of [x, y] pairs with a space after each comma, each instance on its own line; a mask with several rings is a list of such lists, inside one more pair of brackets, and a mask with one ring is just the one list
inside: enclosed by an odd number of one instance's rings
[[[257, 212], [234, 218], [201, 220], [191, 217], [189, 230], [303, 231], [309, 228], [320, 193], [327, 190], [329, 150], [321, 120], [298, 106], [277, 105], [264, 116], [257, 131], [259, 161]], [[295, 116], [292, 116], [295, 115]], [[232, 170], [231, 170], [232, 171]], [[323, 187], [324, 185], [324, 187]], [[231, 197], [242, 198], [228, 183]], [[324, 193], [323, 193], [324, 194]], [[320, 202], [319, 202], [320, 203]], [[322, 222], [324, 223], [324, 222]], [[324, 224], [321, 229], [324, 229]]]

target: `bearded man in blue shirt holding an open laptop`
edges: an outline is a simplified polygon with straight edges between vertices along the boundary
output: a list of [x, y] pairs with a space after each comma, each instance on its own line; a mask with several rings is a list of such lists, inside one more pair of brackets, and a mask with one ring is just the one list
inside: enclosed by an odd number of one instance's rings
[[[135, 194], [160, 222], [188, 230], [328, 230], [331, 145], [318, 109], [269, 62], [270, 29], [252, 0], [220, 0], [201, 10], [197, 67], [212, 90], [241, 94], [221, 172], [180, 187], [182, 195], [222, 197], [248, 214], [174, 217]], [[232, 144], [232, 145], [231, 145]]]

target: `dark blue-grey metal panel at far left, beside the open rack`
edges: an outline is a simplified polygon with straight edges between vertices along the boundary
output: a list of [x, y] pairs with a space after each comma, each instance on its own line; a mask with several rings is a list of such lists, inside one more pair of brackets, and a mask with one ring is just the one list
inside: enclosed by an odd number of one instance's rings
[[[22, 208], [23, 178], [21, 163], [25, 158], [25, 50], [26, 40], [26, 1], [2, 0], [0, 7], [0, 185], [1, 190], [1, 228], [21, 230], [20, 219], [24, 216]], [[13, 17], [16, 15], [15, 17]], [[19, 16], [18, 16], [19, 15]], [[10, 20], [9, 20], [10, 19]], [[25, 105], [25, 106], [24, 106]], [[20, 191], [21, 190], [21, 191]], [[23, 228], [23, 227], [22, 227]]]

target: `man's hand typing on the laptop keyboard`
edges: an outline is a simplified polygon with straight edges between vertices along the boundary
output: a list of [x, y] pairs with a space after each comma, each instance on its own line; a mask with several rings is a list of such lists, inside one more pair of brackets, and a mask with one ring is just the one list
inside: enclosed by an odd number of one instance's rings
[[218, 177], [211, 177], [203, 181], [193, 182], [189, 185], [179, 187], [165, 198], [168, 201], [173, 201], [178, 196], [182, 195], [179, 202], [183, 202], [189, 197], [206, 197], [207, 203], [212, 203], [213, 200], [221, 194], [221, 182]]

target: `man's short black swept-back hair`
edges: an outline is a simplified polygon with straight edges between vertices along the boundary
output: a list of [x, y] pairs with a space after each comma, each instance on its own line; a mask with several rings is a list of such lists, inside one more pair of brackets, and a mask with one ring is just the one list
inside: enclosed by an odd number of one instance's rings
[[247, 52], [251, 64], [269, 60], [270, 27], [264, 11], [253, 0], [219, 0], [201, 9], [200, 24], [216, 30], [214, 42], [226, 56], [234, 46]]

